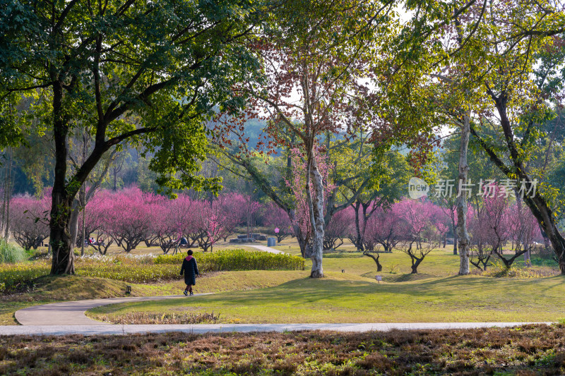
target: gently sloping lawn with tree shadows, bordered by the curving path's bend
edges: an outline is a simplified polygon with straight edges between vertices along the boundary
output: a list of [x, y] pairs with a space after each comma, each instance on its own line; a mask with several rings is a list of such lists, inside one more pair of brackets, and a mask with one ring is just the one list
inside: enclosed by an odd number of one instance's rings
[[[89, 311], [112, 321], [131, 312], [220, 314], [221, 322], [549, 322], [565, 317], [565, 277], [429, 278], [376, 284], [351, 274], [280, 286]], [[133, 323], [133, 322], [132, 322]]]

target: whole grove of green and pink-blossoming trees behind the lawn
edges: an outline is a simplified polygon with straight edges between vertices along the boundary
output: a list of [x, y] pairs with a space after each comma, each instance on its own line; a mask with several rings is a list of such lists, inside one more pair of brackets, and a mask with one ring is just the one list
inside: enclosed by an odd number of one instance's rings
[[[314, 278], [345, 238], [416, 273], [447, 234], [459, 274], [534, 239], [565, 274], [559, 1], [8, 0], [0, 17], [0, 229], [49, 238], [52, 274], [90, 234], [167, 253], [257, 223]], [[412, 175], [531, 194], [410, 201]]]

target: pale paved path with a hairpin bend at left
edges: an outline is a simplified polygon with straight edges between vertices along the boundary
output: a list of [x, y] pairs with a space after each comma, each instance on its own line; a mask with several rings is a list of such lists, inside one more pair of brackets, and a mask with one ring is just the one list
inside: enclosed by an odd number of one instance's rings
[[[207, 295], [204, 293], [194, 296]], [[141, 296], [109, 298], [35, 305], [16, 312], [16, 320], [22, 325], [0, 327], [0, 335], [66, 335], [66, 334], [132, 334], [162, 332], [285, 332], [288, 330], [331, 330], [336, 332], [388, 331], [393, 329], [472, 329], [480, 327], [515, 327], [533, 322], [416, 322], [416, 323], [364, 323], [364, 324], [197, 324], [197, 325], [112, 325], [85, 316], [85, 311], [101, 305], [159, 301], [174, 296]], [[189, 299], [189, 298], [187, 298]], [[550, 324], [538, 322], [537, 324]]]

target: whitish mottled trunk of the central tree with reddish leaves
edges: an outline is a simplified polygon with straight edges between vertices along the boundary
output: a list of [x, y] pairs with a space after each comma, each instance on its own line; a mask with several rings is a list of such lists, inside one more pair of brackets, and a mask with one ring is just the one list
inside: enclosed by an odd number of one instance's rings
[[310, 219], [312, 222], [312, 269], [311, 278], [323, 277], [322, 257], [323, 257], [323, 234], [324, 234], [324, 218], [323, 218], [323, 181], [316, 159], [311, 155], [309, 157], [309, 178], [312, 183], [313, 195], [310, 193], [309, 182], [307, 181], [307, 196], [309, 198]]

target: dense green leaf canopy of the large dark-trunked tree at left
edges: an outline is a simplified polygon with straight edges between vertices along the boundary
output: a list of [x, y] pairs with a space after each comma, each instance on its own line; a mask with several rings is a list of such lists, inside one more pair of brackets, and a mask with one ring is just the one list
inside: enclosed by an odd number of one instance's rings
[[[81, 174], [90, 174], [105, 151], [129, 141], [150, 154], [148, 169], [161, 186], [218, 190], [219, 179], [197, 174], [208, 152], [203, 123], [217, 111], [234, 113], [244, 106], [234, 85], [260, 81], [249, 45], [238, 40], [266, 17], [267, 5], [5, 1], [0, 150], [26, 143], [31, 123], [42, 125], [33, 129], [37, 135], [67, 141], [81, 128], [97, 136], [88, 151], [93, 163]], [[43, 176], [36, 172], [26, 174], [39, 187]], [[66, 177], [71, 196], [85, 180], [74, 174]]]

